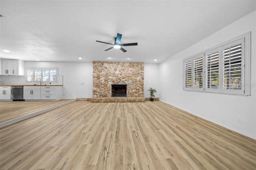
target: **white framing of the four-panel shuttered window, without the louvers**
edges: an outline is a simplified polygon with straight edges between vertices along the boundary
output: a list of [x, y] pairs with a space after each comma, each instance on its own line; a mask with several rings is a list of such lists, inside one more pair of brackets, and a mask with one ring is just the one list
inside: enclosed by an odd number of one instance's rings
[[[224, 89], [223, 83], [223, 49], [225, 46], [231, 45], [234, 42], [242, 42], [242, 78], [241, 78], [241, 89]], [[206, 93], [218, 93], [218, 94], [228, 94], [228, 95], [251, 95], [251, 32], [238, 36], [232, 40], [216, 45], [210, 49], [204, 50], [196, 55], [192, 55], [188, 58], [183, 59], [183, 90], [185, 91], [199, 91]], [[219, 52], [219, 86], [218, 88], [207, 88], [207, 55], [214, 53], [214, 51]], [[203, 88], [194, 88], [194, 58], [198, 55], [203, 54]], [[185, 87], [185, 62], [192, 61], [192, 88]]]

